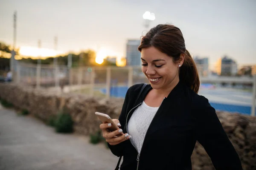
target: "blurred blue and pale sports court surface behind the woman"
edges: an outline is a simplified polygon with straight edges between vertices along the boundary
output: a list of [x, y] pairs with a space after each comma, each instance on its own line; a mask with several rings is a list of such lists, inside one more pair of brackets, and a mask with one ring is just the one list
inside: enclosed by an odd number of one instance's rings
[[[111, 97], [124, 98], [127, 90], [127, 86], [112, 86], [110, 95]], [[105, 88], [102, 88], [101, 91], [106, 94]], [[231, 88], [216, 88], [213, 85], [202, 84], [198, 94], [205, 96], [215, 110], [250, 115], [251, 92]]]

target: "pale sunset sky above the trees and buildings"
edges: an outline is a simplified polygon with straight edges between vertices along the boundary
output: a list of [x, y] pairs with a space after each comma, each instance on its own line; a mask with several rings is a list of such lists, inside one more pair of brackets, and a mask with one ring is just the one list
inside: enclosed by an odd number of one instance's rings
[[128, 39], [149, 30], [143, 14], [157, 24], [174, 24], [183, 32], [186, 48], [209, 57], [210, 66], [228, 55], [239, 65], [256, 64], [256, 0], [0, 0], [0, 41], [13, 43], [13, 13], [17, 11], [17, 46], [80, 51], [108, 49], [125, 57]]

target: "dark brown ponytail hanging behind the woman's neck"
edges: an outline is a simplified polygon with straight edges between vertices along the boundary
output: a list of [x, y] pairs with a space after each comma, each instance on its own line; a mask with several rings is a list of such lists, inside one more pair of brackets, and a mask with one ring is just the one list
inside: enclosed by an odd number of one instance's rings
[[180, 81], [185, 83], [189, 88], [195, 91], [195, 93], [198, 93], [200, 80], [195, 62], [189, 54], [189, 51], [186, 50], [184, 55], [184, 62], [182, 67], [180, 67]]

